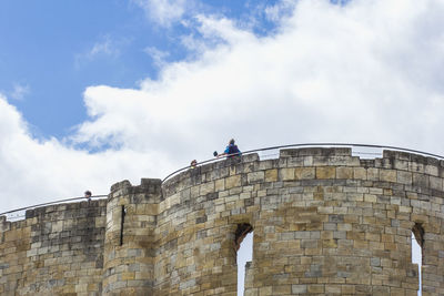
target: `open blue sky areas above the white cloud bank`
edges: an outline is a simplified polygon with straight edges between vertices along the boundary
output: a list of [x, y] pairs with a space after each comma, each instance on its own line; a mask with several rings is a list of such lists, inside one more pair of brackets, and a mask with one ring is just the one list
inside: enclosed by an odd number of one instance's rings
[[[244, 19], [245, 25], [251, 8], [265, 2], [275, 1], [190, 1], [195, 10]], [[181, 23], [193, 16], [164, 24], [147, 13], [138, 1], [124, 0], [0, 3], [0, 90], [36, 136], [62, 137], [84, 121], [82, 93], [90, 85], [135, 88], [140, 80], [155, 79], [154, 50], [168, 62], [193, 58], [180, 42], [198, 33]], [[253, 13], [258, 34], [273, 28]]]

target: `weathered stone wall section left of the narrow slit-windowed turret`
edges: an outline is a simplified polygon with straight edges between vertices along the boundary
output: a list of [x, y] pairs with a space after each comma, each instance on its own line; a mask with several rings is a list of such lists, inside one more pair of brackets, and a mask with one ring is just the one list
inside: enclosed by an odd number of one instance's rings
[[107, 201], [0, 217], [1, 295], [101, 295]]

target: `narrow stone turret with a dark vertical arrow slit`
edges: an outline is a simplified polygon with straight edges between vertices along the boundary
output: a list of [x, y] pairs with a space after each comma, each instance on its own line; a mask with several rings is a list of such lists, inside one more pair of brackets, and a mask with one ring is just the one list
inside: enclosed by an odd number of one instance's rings
[[161, 181], [143, 178], [111, 187], [107, 206], [103, 295], [153, 295], [154, 229]]

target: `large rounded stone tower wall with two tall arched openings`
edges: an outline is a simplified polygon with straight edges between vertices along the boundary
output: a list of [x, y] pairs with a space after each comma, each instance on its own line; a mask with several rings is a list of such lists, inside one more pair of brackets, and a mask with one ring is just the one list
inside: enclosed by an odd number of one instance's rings
[[249, 223], [245, 295], [416, 295], [415, 225], [424, 229], [423, 295], [442, 294], [443, 167], [410, 153], [360, 160], [335, 147], [190, 169], [162, 185], [154, 290], [235, 295], [234, 233]]

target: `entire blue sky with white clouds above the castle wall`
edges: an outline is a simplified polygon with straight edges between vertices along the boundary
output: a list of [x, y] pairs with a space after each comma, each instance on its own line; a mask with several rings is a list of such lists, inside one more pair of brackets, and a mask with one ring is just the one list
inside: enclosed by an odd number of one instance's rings
[[304, 142], [444, 154], [442, 0], [0, 3], [0, 212]]

